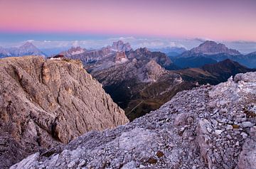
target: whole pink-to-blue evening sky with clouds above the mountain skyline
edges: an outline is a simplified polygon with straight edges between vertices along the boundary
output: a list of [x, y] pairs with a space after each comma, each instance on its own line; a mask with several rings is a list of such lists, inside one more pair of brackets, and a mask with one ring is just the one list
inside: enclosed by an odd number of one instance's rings
[[255, 0], [0, 0], [0, 46], [184, 47], [215, 40], [256, 50]]

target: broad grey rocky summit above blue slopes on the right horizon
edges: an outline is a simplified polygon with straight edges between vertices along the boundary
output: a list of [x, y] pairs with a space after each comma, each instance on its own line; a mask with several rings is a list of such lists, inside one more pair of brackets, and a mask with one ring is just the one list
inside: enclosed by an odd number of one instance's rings
[[222, 43], [215, 43], [214, 41], [207, 40], [204, 43], [201, 43], [196, 48], [191, 50], [193, 53], [203, 53], [207, 55], [214, 55], [218, 53], [228, 53], [230, 55], [241, 55], [238, 50], [229, 49]]

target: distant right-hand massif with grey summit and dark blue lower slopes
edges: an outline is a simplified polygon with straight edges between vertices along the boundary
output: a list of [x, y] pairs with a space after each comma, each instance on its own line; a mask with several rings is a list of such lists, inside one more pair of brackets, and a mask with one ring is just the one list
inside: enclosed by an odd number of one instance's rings
[[171, 57], [174, 64], [181, 68], [201, 67], [225, 59], [234, 60], [246, 67], [256, 68], [256, 53], [242, 55], [238, 50], [227, 48], [225, 45], [213, 41], [206, 41], [181, 55]]

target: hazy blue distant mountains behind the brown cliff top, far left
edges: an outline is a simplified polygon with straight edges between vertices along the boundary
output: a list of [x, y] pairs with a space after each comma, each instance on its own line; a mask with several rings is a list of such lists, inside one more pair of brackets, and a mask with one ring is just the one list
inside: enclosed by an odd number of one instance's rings
[[18, 48], [2, 48], [0, 47], [0, 58], [15, 57], [23, 55], [42, 55], [46, 56], [41, 50], [36, 48], [33, 43], [26, 42]]

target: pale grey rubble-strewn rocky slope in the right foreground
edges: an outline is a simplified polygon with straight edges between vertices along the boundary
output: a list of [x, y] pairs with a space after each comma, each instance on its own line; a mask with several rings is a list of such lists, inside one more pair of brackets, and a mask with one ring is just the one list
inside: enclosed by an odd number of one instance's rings
[[129, 124], [11, 168], [255, 168], [256, 72], [178, 92]]

